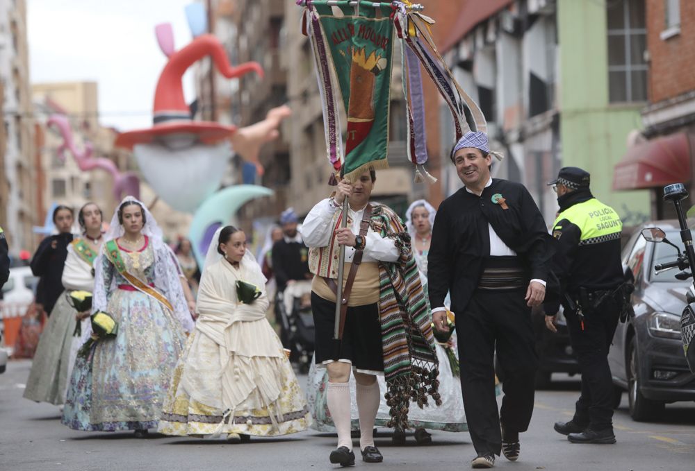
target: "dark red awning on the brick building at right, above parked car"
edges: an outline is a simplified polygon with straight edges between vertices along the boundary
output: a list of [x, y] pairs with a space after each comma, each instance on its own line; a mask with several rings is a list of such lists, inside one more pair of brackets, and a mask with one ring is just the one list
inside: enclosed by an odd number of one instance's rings
[[685, 132], [628, 149], [614, 167], [613, 189], [641, 189], [690, 182], [690, 139]]

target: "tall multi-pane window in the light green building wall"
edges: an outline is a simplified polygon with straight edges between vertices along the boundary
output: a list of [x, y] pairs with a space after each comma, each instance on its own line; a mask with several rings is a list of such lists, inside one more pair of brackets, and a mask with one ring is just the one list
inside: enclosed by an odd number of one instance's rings
[[631, 103], [647, 99], [644, 0], [607, 3], [608, 99]]

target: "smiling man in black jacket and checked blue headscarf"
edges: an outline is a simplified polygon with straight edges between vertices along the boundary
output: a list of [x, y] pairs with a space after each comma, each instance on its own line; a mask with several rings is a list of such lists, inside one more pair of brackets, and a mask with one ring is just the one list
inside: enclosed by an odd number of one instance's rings
[[[471, 465], [492, 468], [500, 451], [518, 459], [518, 434], [531, 420], [538, 363], [531, 307], [543, 302], [552, 246], [528, 190], [491, 178], [484, 132], [461, 137], [451, 160], [465, 187], [441, 203], [434, 219], [427, 274], [432, 319], [436, 329], [445, 328], [449, 292], [468, 431], [478, 455]], [[495, 349], [505, 375], [500, 413]]]

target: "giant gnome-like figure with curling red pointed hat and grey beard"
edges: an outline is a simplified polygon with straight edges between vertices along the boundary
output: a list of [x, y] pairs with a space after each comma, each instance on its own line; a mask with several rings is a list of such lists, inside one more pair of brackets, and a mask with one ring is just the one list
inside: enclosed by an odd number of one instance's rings
[[263, 76], [257, 62], [233, 67], [224, 46], [206, 29], [204, 7], [187, 8], [194, 39], [179, 51], [169, 25], [156, 28], [157, 39], [169, 60], [154, 94], [152, 128], [122, 132], [115, 145], [132, 149], [145, 180], [172, 208], [193, 213], [220, 188], [232, 155], [230, 139], [236, 126], [194, 121], [183, 96], [183, 74], [198, 60], [210, 56], [220, 74], [237, 78], [252, 71]]

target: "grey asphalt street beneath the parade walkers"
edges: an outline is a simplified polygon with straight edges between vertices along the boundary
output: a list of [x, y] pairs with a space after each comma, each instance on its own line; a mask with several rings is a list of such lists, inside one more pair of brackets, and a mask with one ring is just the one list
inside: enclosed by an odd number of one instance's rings
[[[224, 440], [172, 438], [154, 434], [138, 440], [132, 432], [88, 433], [60, 425], [58, 407], [22, 398], [30, 361], [10, 361], [0, 375], [0, 470], [165, 470], [165, 471], [295, 471], [330, 470], [328, 455], [336, 438], [306, 431], [285, 438], [252, 438], [232, 445]], [[694, 471], [695, 404], [667, 405], [659, 422], [634, 422], [627, 396], [614, 417], [616, 445], [573, 445], [553, 431], [557, 420], [569, 420], [578, 396], [578, 379], [553, 377], [548, 391], [538, 391], [531, 427], [521, 435], [521, 457], [504, 457], [500, 470]], [[300, 377], [302, 384], [306, 377]], [[420, 447], [409, 436], [406, 445], [391, 445], [382, 429], [376, 445], [384, 463], [358, 468], [373, 470], [467, 470], [475, 456], [467, 433], [433, 432], [433, 443]]]

